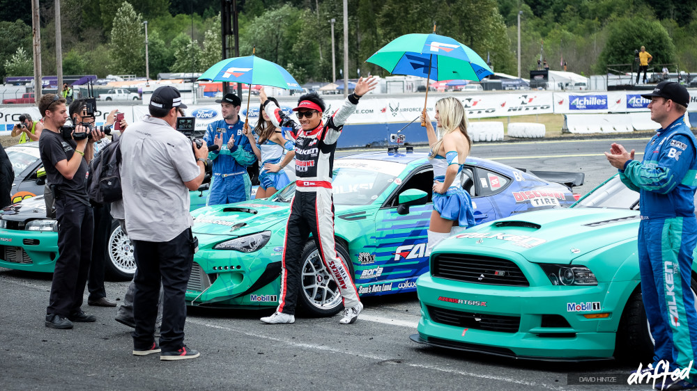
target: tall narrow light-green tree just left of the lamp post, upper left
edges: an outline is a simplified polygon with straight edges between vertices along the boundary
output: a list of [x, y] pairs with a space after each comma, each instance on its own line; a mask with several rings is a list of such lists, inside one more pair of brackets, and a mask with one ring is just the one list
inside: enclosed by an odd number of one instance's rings
[[114, 72], [144, 73], [145, 34], [142, 18], [128, 1], [123, 1], [116, 11], [111, 47]]

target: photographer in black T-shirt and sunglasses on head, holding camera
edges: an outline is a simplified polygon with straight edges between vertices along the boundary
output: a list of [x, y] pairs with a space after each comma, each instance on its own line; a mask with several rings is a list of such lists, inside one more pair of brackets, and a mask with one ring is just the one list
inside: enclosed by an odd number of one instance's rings
[[61, 134], [61, 127], [68, 119], [66, 99], [46, 94], [39, 99], [38, 106], [44, 115], [47, 130], [41, 134], [39, 153], [47, 182], [54, 191], [60, 253], [53, 273], [45, 325], [49, 328], [72, 328], [74, 321], [96, 320], [80, 308], [89, 271], [94, 228], [85, 179], [87, 161], [92, 157], [92, 144], [104, 134], [92, 131], [90, 139], [84, 134], [88, 129], [77, 125], [72, 130], [72, 138], [67, 139]]

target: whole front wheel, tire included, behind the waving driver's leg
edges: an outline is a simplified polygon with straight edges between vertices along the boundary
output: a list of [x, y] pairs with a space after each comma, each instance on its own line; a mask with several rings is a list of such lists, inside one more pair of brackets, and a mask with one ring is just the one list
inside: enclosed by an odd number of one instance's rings
[[[348, 267], [348, 275], [353, 281], [353, 264], [348, 250], [343, 244], [336, 244], [339, 258]], [[310, 317], [331, 317], [344, 309], [339, 286], [325, 268], [314, 240], [309, 241], [300, 257], [300, 292], [298, 292], [298, 309]]]

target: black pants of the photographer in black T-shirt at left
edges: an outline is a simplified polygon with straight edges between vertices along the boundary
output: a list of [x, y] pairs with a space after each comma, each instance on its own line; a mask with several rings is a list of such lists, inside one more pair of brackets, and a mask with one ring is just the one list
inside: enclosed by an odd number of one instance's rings
[[56, 198], [58, 251], [47, 314], [67, 317], [82, 305], [92, 253], [92, 207], [79, 200]]

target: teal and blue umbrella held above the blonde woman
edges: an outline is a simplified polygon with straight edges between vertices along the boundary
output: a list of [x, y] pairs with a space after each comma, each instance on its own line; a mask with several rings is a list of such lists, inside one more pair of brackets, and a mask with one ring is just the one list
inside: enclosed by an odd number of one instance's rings
[[[366, 62], [383, 67], [392, 74], [425, 77], [426, 99], [431, 79], [480, 81], [493, 74], [475, 51], [457, 40], [436, 34], [435, 24], [434, 33], [402, 35], [376, 51]], [[426, 126], [426, 123], [422, 122], [421, 126]]]

